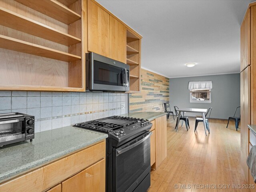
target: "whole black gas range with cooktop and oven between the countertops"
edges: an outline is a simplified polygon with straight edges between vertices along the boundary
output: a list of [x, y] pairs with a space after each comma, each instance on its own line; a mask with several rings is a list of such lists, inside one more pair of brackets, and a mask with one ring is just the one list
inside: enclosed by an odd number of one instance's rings
[[111, 116], [74, 126], [108, 134], [106, 192], [144, 192], [148, 189], [152, 123], [141, 118]]

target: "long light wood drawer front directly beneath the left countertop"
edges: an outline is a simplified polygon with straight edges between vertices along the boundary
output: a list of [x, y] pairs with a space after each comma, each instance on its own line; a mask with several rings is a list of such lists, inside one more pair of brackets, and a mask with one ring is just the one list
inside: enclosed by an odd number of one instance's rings
[[105, 157], [100, 142], [0, 184], [1, 192], [42, 192]]

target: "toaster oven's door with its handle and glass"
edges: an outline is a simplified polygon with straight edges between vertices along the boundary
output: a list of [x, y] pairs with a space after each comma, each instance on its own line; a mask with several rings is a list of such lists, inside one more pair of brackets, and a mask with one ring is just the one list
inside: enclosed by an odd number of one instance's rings
[[0, 119], [0, 146], [25, 140], [24, 117]]

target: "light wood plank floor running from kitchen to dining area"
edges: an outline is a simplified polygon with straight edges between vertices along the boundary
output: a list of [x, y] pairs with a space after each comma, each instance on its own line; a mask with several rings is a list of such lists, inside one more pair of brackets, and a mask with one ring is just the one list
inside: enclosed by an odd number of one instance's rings
[[[202, 122], [194, 132], [195, 119], [189, 118], [189, 121], [188, 131], [180, 123], [176, 132], [174, 120], [168, 120], [167, 158], [157, 170], [152, 170], [148, 192], [250, 191], [232, 189], [232, 184], [246, 184], [240, 167], [240, 129], [236, 131], [234, 123], [226, 128], [227, 121], [210, 120], [210, 134], [205, 136]], [[190, 184], [191, 188], [175, 189], [174, 184]], [[231, 186], [229, 189], [210, 189], [193, 188], [192, 184]]]

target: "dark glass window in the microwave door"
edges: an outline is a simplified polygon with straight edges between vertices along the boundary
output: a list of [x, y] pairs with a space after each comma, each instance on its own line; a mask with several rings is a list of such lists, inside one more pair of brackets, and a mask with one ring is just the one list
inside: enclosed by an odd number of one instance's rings
[[122, 68], [94, 60], [94, 84], [120, 86]]

